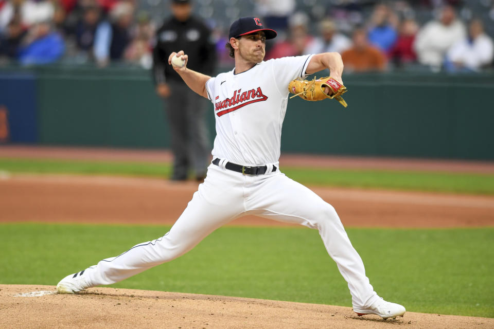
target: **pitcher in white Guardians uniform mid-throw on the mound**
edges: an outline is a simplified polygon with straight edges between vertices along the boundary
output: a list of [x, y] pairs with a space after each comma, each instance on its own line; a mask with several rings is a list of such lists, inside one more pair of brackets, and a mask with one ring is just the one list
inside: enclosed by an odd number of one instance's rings
[[[264, 28], [256, 17], [235, 21], [229, 36], [227, 48], [235, 68], [216, 77], [188, 69], [183, 51], [172, 52], [168, 59], [190, 89], [213, 103], [216, 119], [213, 161], [187, 208], [164, 236], [65, 277], [57, 290], [77, 293], [129, 278], [183, 255], [235, 218], [254, 214], [318, 230], [348, 283], [359, 316], [403, 316], [403, 306], [386, 302], [374, 291], [334, 208], [279, 169], [281, 126], [290, 93], [307, 100], [335, 98], [346, 106], [340, 54], [263, 61], [266, 40], [275, 38], [276, 32]], [[302, 80], [326, 68], [331, 77]]]

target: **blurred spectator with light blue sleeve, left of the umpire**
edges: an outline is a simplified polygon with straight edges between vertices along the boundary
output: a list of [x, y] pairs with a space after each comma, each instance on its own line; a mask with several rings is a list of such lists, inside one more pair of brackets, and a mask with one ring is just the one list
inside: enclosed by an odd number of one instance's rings
[[134, 8], [128, 2], [117, 3], [110, 11], [110, 21], [98, 25], [94, 41], [94, 56], [99, 66], [110, 60], [121, 60], [131, 41], [130, 25]]

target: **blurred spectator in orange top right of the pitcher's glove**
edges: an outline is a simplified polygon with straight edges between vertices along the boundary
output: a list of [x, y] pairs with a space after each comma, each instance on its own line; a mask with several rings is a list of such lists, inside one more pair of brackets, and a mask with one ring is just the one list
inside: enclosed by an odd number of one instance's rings
[[386, 56], [379, 48], [369, 44], [364, 29], [356, 29], [352, 41], [353, 46], [341, 54], [347, 71], [383, 71], [386, 68]]

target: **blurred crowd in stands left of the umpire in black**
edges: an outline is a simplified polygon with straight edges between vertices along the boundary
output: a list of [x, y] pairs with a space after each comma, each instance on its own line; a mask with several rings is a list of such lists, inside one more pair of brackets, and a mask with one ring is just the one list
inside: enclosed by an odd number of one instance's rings
[[152, 65], [154, 24], [134, 0], [0, 0], [0, 63]]

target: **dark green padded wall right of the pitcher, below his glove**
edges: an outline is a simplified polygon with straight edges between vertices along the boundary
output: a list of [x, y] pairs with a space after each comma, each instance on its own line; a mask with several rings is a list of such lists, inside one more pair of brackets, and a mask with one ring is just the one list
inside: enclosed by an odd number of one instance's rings
[[[494, 159], [494, 77], [354, 75], [348, 102], [289, 102], [287, 152]], [[297, 132], [298, 131], [298, 135]]]

